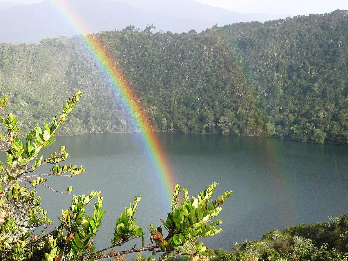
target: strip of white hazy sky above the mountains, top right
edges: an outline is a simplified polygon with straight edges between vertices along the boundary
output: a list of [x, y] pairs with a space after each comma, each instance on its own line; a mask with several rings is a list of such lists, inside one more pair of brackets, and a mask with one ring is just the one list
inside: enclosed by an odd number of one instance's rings
[[196, 0], [239, 13], [324, 14], [348, 9], [347, 0]]

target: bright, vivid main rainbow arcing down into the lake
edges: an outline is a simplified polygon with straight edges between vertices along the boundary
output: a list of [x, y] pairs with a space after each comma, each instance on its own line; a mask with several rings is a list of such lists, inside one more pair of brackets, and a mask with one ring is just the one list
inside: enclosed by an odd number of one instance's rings
[[135, 121], [139, 125], [142, 141], [151, 155], [151, 161], [157, 170], [157, 178], [159, 182], [164, 184], [168, 199], [172, 199], [174, 190], [174, 176], [171, 171], [166, 153], [161, 146], [161, 143], [156, 135], [156, 132], [152, 128], [151, 122], [145, 113], [139, 97], [134, 93], [132, 86], [125, 78], [121, 69], [117, 65], [117, 61], [108, 49], [103, 45], [95, 35], [88, 34], [90, 31], [82, 21], [78, 14], [71, 10], [66, 5], [65, 0], [50, 0], [54, 5], [54, 8], [58, 10], [62, 17], [70, 23], [71, 27], [81, 37], [82, 41], [86, 44], [90, 53], [94, 56], [95, 60], [100, 65], [101, 69], [106, 73], [112, 82], [114, 88], [120, 94], [121, 100], [124, 102], [130, 115], [135, 116]]

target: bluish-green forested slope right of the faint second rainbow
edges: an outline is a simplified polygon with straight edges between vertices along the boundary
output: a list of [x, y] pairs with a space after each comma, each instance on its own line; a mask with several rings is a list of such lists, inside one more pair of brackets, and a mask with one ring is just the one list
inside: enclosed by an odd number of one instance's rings
[[348, 144], [348, 12], [226, 25], [264, 112], [265, 129]]

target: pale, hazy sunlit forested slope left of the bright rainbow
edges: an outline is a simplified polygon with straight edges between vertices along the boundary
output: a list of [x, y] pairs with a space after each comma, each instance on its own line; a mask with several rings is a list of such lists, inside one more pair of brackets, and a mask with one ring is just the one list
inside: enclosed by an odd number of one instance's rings
[[16, 113], [21, 122], [42, 125], [56, 114], [64, 97], [80, 88], [85, 96], [82, 106], [61, 132], [122, 131], [114, 126], [123, 122], [125, 115], [118, 98], [112, 95], [112, 87], [103, 80], [78, 38], [47, 39], [38, 45], [1, 45], [1, 49], [1, 93], [8, 93], [11, 103], [5, 110]]

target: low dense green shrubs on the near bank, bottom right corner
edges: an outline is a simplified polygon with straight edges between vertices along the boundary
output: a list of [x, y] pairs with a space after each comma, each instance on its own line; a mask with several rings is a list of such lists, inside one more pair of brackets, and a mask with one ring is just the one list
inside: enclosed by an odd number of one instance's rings
[[[260, 240], [244, 241], [242, 245], [235, 243], [232, 251], [208, 249], [204, 254], [205, 260], [211, 261], [347, 261], [348, 215], [330, 217], [327, 223], [273, 230]], [[161, 256], [160, 260], [193, 259], [169, 254]]]

